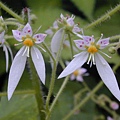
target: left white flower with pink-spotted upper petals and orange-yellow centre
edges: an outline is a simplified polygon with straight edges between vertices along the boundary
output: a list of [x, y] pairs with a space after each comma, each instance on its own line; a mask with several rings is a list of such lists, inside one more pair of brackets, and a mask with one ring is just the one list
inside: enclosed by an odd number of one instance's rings
[[[33, 35], [32, 28], [29, 23], [22, 31], [12, 30], [14, 38], [23, 44], [23, 47], [16, 54], [10, 68], [8, 79], [8, 99], [11, 98], [17, 84], [22, 76], [25, 68], [29, 51], [31, 52], [32, 61], [43, 84], [45, 84], [45, 63], [41, 52], [36, 47], [44, 41], [46, 34]], [[43, 49], [43, 48], [41, 48]]]

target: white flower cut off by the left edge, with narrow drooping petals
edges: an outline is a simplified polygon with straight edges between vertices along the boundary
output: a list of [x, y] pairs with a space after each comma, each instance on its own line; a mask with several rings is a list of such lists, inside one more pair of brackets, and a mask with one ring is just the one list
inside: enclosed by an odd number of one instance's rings
[[5, 31], [0, 33], [0, 47], [3, 47], [3, 51], [5, 52], [5, 58], [6, 58], [6, 72], [8, 71], [8, 66], [9, 66], [9, 55], [8, 52], [10, 53], [11, 60], [13, 60], [13, 54], [10, 46], [4, 39], [4, 34]]

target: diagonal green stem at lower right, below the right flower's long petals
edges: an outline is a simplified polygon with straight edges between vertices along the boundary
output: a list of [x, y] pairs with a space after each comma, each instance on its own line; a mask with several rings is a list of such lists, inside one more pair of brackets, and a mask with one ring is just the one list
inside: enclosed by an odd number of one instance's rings
[[68, 115], [66, 115], [63, 120], [67, 120], [70, 118], [76, 110], [78, 110], [80, 107], [82, 107], [90, 98], [91, 96], [97, 92], [101, 87], [103, 86], [103, 82], [101, 81], [90, 93], [88, 96], [86, 96], [73, 110], [70, 111]]

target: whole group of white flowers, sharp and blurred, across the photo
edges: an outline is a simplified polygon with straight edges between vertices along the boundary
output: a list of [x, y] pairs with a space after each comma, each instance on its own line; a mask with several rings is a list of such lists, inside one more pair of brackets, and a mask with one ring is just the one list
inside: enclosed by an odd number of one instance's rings
[[[81, 35], [80, 32], [82, 31], [82, 28], [79, 28], [78, 24], [75, 24], [74, 19], [74, 15], [64, 16], [61, 14], [60, 19], [56, 20], [53, 23], [53, 26], [45, 31], [50, 36], [53, 36], [51, 40], [51, 55], [53, 55], [53, 57], [55, 55], [54, 53], [57, 53], [60, 50], [61, 44], [66, 44], [70, 48], [73, 47], [73, 50], [77, 52], [78, 49], [82, 50], [82, 52], [74, 55], [74, 59], [67, 64], [67, 67], [59, 75], [58, 79], [70, 75], [71, 80], [76, 79], [77, 81], [82, 82], [83, 76], [87, 76], [88, 73], [86, 73], [87, 70], [85, 68], [81, 68], [81, 66], [87, 61], [87, 64], [90, 64], [90, 67], [92, 65], [96, 65], [98, 73], [105, 85], [108, 87], [111, 93], [118, 100], [120, 100], [120, 91], [116, 77], [107, 61], [100, 54], [102, 53], [109, 57], [107, 54], [102, 52], [102, 49], [109, 45], [110, 38], [103, 39], [102, 35], [101, 38], [96, 42], [94, 36]], [[0, 17], [0, 21], [3, 22], [2, 17]], [[27, 58], [30, 56], [39, 78], [41, 79], [42, 83], [45, 84], [45, 63], [38, 48], [45, 51], [40, 44], [44, 41], [47, 34], [33, 34], [29, 23], [27, 23], [22, 30], [12, 30], [12, 33], [13, 37], [19, 42], [18, 44], [15, 44], [15, 46], [22, 45], [14, 59], [11, 49], [4, 39], [5, 30], [0, 33], [0, 47], [3, 47], [3, 51], [5, 51], [6, 55], [6, 71], [8, 70], [9, 60], [8, 51], [13, 59], [8, 78], [8, 99], [10, 99], [13, 95], [13, 92], [15, 91], [25, 69]], [[74, 43], [78, 49], [76, 49], [75, 46], [72, 46], [71, 40], [69, 40], [69, 43], [68, 41], [64, 41], [69, 35], [75, 35], [76, 37], [79, 37], [79, 39], [74, 40]], [[59, 61], [56, 61], [56, 63], [58, 62]]]

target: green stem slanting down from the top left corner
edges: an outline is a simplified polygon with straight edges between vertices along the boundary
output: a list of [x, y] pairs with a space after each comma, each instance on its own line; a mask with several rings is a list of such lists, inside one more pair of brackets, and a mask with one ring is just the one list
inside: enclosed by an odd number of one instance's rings
[[24, 23], [24, 20], [17, 15], [15, 12], [13, 12], [10, 8], [8, 8], [7, 6], [5, 6], [2, 2], [0, 2], [0, 7], [5, 10], [6, 12], [8, 12], [10, 15], [12, 15], [14, 18], [18, 19], [19, 22]]

